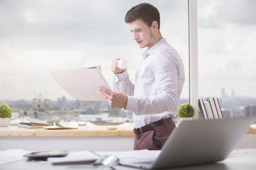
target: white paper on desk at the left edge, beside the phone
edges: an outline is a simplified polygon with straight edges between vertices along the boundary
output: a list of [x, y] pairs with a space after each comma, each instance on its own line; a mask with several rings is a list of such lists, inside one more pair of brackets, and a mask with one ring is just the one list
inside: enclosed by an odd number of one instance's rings
[[5, 151], [0, 151], [0, 165], [8, 164], [15, 161], [25, 160], [23, 155], [31, 153], [31, 151], [26, 151], [22, 149], [10, 149]]

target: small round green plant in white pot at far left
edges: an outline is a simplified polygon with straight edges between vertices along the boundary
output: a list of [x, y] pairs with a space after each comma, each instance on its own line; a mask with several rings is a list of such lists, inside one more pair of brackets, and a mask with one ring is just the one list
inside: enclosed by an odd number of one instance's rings
[[10, 119], [12, 117], [12, 108], [6, 104], [2, 103], [0, 105], [0, 126], [9, 126]]

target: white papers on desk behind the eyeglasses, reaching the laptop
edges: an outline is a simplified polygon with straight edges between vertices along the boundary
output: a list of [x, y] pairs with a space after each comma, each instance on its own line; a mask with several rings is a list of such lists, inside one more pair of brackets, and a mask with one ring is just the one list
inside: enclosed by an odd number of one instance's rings
[[116, 156], [120, 160], [124, 159], [156, 159], [161, 150], [131, 150], [131, 151], [119, 151], [119, 152], [95, 152], [100, 156]]

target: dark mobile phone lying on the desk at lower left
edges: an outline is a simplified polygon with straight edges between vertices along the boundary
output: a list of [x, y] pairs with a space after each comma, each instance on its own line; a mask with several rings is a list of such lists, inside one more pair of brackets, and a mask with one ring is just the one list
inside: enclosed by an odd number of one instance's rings
[[67, 153], [68, 153], [67, 150], [53, 150], [53, 151], [32, 152], [23, 156], [29, 157], [29, 158], [64, 157], [67, 155]]

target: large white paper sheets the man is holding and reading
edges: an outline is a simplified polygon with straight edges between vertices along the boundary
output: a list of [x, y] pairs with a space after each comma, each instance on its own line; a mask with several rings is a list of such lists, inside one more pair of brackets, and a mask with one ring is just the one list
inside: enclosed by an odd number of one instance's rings
[[99, 85], [110, 88], [99, 68], [49, 69], [53, 79], [70, 96], [83, 101], [106, 101]]

